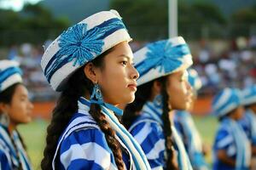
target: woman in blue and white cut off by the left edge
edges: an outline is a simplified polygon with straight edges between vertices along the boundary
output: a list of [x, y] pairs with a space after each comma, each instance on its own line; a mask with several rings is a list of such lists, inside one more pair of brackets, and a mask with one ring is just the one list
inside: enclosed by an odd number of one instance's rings
[[32, 108], [18, 63], [0, 60], [0, 169], [32, 169], [17, 130], [32, 121]]

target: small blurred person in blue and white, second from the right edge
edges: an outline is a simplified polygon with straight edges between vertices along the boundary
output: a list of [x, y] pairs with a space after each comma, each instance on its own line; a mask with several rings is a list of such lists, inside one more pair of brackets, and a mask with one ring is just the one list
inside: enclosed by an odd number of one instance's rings
[[224, 88], [212, 100], [220, 125], [213, 145], [213, 169], [249, 169], [251, 147], [238, 121], [243, 116], [241, 92]]

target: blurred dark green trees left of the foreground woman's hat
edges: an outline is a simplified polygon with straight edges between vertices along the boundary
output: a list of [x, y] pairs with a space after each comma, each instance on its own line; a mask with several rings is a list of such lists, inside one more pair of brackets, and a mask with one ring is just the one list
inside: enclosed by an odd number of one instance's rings
[[20, 12], [0, 9], [0, 45], [42, 43], [69, 26], [67, 18], [55, 19], [40, 3], [26, 4]]

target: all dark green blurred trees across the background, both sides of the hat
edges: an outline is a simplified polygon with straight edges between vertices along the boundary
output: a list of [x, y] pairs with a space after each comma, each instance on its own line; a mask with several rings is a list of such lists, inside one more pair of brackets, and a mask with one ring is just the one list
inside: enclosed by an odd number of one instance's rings
[[[110, 8], [119, 11], [137, 40], [168, 37], [167, 0], [111, 0]], [[0, 9], [0, 45], [42, 43], [57, 37], [69, 24], [67, 18], [55, 18], [42, 3], [26, 4], [20, 12]], [[255, 35], [256, 6], [242, 8], [229, 17], [209, 1], [178, 0], [178, 32], [186, 39]]]

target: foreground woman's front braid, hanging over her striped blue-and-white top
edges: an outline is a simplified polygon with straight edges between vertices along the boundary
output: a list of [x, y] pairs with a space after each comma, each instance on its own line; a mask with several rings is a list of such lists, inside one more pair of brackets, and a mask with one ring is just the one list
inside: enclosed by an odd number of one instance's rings
[[102, 129], [102, 132], [105, 133], [105, 137], [108, 142], [109, 148], [113, 152], [114, 161], [119, 170], [125, 169], [124, 162], [122, 159], [122, 151], [119, 141], [115, 138], [115, 132], [110, 127], [109, 123], [106, 121], [106, 117], [102, 115], [102, 109], [100, 105], [91, 104], [90, 105], [90, 115], [95, 119], [98, 126]]

